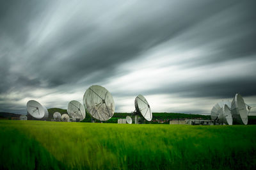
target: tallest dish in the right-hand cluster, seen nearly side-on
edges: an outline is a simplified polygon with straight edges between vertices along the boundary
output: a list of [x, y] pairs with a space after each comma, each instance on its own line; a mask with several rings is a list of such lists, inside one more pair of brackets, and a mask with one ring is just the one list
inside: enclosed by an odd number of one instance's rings
[[234, 124], [247, 125], [248, 123], [248, 111], [246, 110], [246, 104], [243, 97], [238, 93], [234, 97], [231, 104], [231, 114]]

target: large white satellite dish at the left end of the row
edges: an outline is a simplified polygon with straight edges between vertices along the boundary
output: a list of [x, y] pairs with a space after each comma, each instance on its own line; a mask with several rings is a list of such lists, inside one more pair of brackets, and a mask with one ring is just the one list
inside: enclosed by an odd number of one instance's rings
[[42, 106], [39, 102], [35, 100], [29, 100], [27, 103], [28, 114], [30, 114], [33, 118], [46, 120], [48, 118], [49, 112], [47, 109]]

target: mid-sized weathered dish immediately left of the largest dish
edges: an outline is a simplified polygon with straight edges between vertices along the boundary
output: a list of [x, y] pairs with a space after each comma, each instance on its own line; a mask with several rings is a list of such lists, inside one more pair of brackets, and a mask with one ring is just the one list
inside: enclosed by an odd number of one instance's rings
[[79, 120], [83, 120], [86, 115], [84, 106], [76, 100], [72, 100], [68, 103], [67, 111], [70, 117], [77, 118]]

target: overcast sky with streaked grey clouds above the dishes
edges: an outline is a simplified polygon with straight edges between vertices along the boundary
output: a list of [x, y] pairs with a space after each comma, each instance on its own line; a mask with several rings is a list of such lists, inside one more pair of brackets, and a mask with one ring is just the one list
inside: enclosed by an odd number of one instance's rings
[[[0, 111], [83, 102], [93, 84], [116, 112], [210, 114], [240, 93], [256, 105], [255, 1], [1, 1]], [[256, 112], [254, 109], [252, 112]]]

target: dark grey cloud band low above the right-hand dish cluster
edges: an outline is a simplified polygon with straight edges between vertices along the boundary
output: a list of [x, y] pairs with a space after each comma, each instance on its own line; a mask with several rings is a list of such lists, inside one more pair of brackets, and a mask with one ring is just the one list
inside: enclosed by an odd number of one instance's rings
[[172, 84], [168, 88], [163, 87], [145, 91], [144, 93], [146, 95], [176, 94], [180, 97], [232, 98], [236, 93], [242, 94], [243, 97], [255, 96], [255, 86], [255, 79], [228, 79], [225, 81], [202, 82], [200, 84], [183, 82], [183, 84]]

